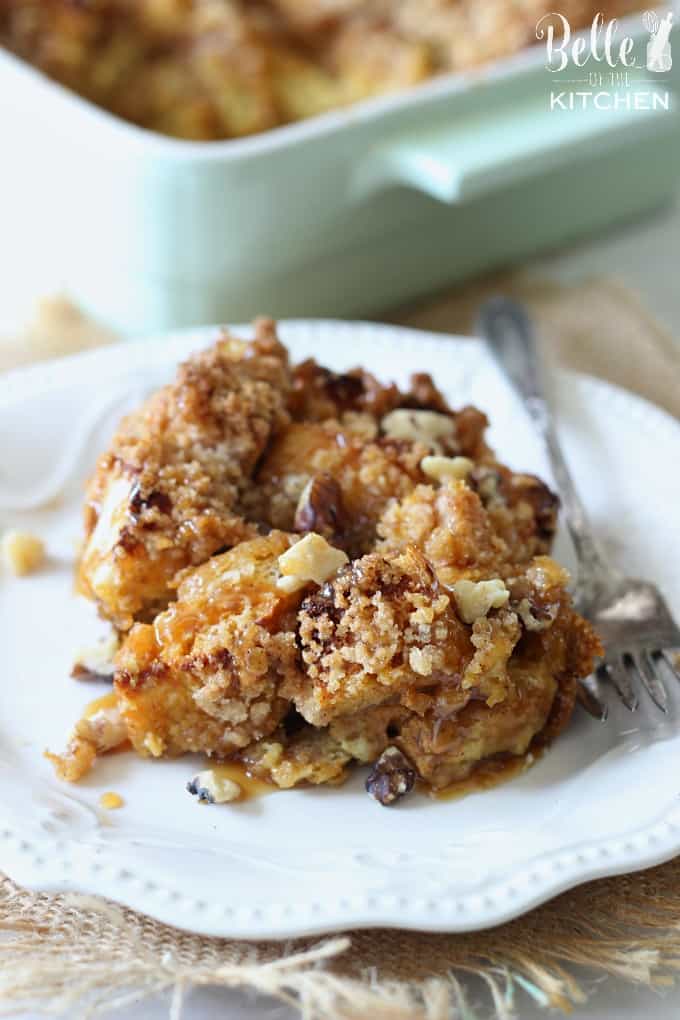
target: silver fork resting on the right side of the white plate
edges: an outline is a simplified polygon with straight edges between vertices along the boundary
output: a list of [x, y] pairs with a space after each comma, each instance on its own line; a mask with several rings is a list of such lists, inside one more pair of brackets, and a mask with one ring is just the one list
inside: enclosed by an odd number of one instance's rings
[[644, 687], [655, 705], [667, 713], [665, 680], [672, 681], [673, 676], [680, 680], [672, 655], [672, 650], [680, 648], [680, 628], [659, 589], [624, 576], [607, 562], [593, 537], [558, 440], [529, 317], [517, 302], [496, 297], [481, 306], [477, 324], [479, 336], [519, 393], [545, 444], [576, 551], [574, 601], [605, 646], [595, 675], [582, 683], [581, 701], [592, 715], [605, 719], [607, 705], [598, 697], [597, 681], [610, 681], [631, 712], [638, 708], [638, 692]]

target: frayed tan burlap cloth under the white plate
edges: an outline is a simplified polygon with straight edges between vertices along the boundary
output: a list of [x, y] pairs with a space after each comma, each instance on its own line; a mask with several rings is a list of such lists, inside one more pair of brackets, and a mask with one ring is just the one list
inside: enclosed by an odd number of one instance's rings
[[[680, 346], [611, 280], [565, 290], [498, 278], [393, 319], [467, 333], [478, 300], [491, 291], [527, 301], [561, 362], [680, 416]], [[64, 308], [57, 307], [63, 330]], [[56, 353], [49, 306], [45, 312], [20, 344], [0, 342], [0, 365], [25, 361], [32, 351]], [[92, 346], [93, 337], [73, 326], [65, 341], [73, 350]], [[680, 859], [590, 883], [470, 935], [371, 930], [285, 946], [204, 938], [91, 897], [29, 894], [8, 879], [0, 879], [0, 932], [2, 1013], [124, 1013], [133, 1000], [165, 992], [177, 1020], [188, 989], [217, 985], [278, 997], [307, 1020], [469, 1020], [464, 987], [475, 974], [488, 990], [486, 1007], [507, 1020], [524, 994], [564, 1010], [581, 1002], [584, 988], [574, 976], [581, 967], [641, 984], [672, 981], [680, 968]]]

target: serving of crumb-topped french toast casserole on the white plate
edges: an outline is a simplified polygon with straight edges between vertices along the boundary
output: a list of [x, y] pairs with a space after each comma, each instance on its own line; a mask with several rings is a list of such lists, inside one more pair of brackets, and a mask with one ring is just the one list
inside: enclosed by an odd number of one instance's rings
[[291, 365], [270, 320], [192, 356], [87, 487], [79, 586], [118, 649], [58, 774], [126, 742], [280, 787], [359, 762], [389, 804], [546, 746], [601, 650], [548, 555], [557, 498], [486, 425], [426, 374]]

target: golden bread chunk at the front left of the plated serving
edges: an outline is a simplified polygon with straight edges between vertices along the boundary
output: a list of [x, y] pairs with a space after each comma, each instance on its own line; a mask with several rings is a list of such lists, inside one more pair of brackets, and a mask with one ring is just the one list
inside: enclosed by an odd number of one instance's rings
[[295, 539], [272, 531], [187, 573], [177, 601], [138, 623], [116, 660], [129, 738], [158, 757], [224, 757], [272, 732], [298, 672], [295, 613], [303, 597], [277, 588], [278, 557]]

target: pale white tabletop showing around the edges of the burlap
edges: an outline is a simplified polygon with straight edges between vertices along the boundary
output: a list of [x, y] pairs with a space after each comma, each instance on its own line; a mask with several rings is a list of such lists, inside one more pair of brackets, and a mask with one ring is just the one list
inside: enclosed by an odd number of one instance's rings
[[[567, 253], [541, 258], [542, 273], [564, 282], [582, 275], [618, 276], [636, 290], [647, 307], [678, 338], [680, 344], [680, 203], [652, 216], [618, 228]], [[6, 278], [6, 277], [5, 277]], [[15, 282], [12, 282], [14, 285]], [[44, 286], [44, 285], [43, 285]], [[12, 286], [12, 294], [0, 293], [4, 302], [3, 319], [10, 307], [17, 307], [30, 296], [28, 290]], [[680, 379], [678, 380], [680, 382]], [[664, 993], [631, 987], [614, 979], [594, 980], [583, 975], [591, 991], [587, 1006], [575, 1010], [573, 1020], [672, 1020], [680, 1017], [680, 988]], [[471, 986], [470, 998], [483, 1003], [481, 987]], [[526, 1001], [521, 1004], [521, 1020], [545, 1020], [547, 1014]], [[479, 1016], [484, 1015], [479, 1010]], [[144, 1003], [124, 1011], [125, 1020], [165, 1020], [167, 1002]], [[121, 1014], [116, 1015], [118, 1018]], [[201, 990], [190, 996], [185, 1020], [294, 1020], [297, 1013], [271, 1001], [232, 991]], [[38, 1020], [27, 1015], [23, 1020]], [[371, 1018], [366, 1018], [371, 1020]]]

